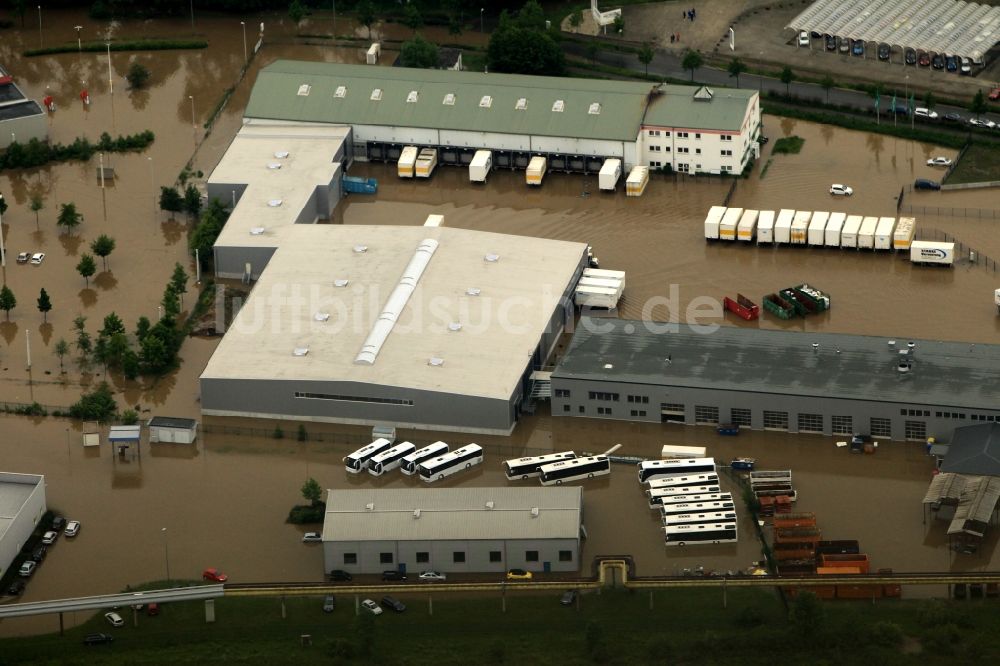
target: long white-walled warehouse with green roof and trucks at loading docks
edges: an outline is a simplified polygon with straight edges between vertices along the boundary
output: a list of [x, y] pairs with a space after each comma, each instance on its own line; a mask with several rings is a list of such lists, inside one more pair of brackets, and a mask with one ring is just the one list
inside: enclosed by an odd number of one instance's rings
[[626, 168], [740, 173], [756, 156], [756, 91], [513, 74], [279, 60], [244, 113], [352, 129], [357, 159], [395, 161], [404, 146], [436, 147], [444, 164], [493, 151], [497, 167], [592, 173]]

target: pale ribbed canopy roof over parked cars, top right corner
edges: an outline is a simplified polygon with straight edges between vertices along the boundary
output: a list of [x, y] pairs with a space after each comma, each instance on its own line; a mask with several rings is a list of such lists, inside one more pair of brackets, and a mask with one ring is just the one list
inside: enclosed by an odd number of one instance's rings
[[982, 60], [1000, 7], [958, 0], [817, 0], [786, 28]]

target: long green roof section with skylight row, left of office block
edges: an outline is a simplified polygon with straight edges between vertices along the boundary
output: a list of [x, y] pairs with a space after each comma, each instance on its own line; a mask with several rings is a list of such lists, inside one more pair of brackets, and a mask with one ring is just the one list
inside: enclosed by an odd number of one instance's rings
[[[299, 96], [299, 86], [311, 86]], [[344, 86], [343, 99], [334, 96]], [[382, 100], [372, 101], [375, 88]], [[693, 88], [688, 94], [694, 92]], [[245, 116], [635, 141], [652, 84], [278, 60], [257, 76]], [[418, 101], [408, 103], [410, 91]], [[443, 104], [455, 95], [454, 106]], [[481, 108], [484, 95], [493, 98]], [[519, 98], [527, 109], [515, 110]], [[552, 111], [563, 100], [562, 113]], [[589, 113], [601, 105], [600, 114]], [[706, 105], [707, 106], [707, 105]], [[742, 119], [742, 114], [740, 116]]]

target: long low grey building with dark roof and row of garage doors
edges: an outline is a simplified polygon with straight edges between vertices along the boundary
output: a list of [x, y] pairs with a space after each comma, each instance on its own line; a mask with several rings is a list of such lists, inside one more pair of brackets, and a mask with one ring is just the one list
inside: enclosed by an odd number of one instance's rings
[[915, 441], [1000, 421], [997, 345], [674, 326], [582, 319], [552, 413]]

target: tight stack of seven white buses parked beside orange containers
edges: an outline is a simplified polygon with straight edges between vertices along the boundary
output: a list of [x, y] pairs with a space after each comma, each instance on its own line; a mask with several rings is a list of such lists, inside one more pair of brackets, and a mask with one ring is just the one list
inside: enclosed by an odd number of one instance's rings
[[637, 467], [668, 546], [736, 542], [736, 504], [722, 492], [713, 458], [646, 460]]

